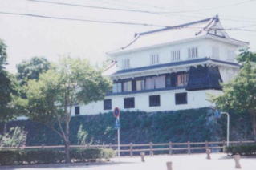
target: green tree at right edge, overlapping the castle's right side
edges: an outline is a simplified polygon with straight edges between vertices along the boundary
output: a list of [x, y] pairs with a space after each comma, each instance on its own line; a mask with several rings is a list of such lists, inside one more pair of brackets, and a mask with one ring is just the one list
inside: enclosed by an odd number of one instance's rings
[[248, 111], [256, 140], [256, 53], [243, 49], [238, 62], [242, 64], [238, 75], [223, 84], [223, 94], [213, 98], [213, 102], [224, 111]]

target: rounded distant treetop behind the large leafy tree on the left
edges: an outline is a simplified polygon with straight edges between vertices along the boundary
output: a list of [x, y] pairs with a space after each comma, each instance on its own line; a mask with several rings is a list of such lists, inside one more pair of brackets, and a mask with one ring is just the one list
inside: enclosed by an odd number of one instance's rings
[[43, 57], [33, 57], [28, 61], [22, 61], [17, 65], [17, 79], [21, 85], [29, 79], [39, 79], [39, 75], [51, 69], [51, 63]]

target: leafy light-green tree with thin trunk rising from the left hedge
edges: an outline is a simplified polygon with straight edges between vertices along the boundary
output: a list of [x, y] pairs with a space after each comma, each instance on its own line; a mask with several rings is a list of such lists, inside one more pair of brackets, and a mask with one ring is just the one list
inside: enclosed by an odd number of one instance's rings
[[[51, 127], [64, 141], [70, 162], [71, 110], [75, 103], [104, 99], [110, 81], [84, 59], [61, 59], [59, 65], [27, 83], [27, 116]], [[55, 126], [57, 124], [57, 126]]]

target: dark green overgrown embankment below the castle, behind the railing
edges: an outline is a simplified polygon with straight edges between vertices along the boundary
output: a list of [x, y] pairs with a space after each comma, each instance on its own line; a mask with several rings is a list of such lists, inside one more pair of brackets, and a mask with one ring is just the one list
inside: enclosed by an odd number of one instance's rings
[[[83, 125], [87, 132], [88, 144], [116, 144], [116, 119], [109, 113], [78, 115], [71, 118], [71, 144], [78, 144], [77, 132]], [[168, 143], [201, 142], [226, 140], [226, 116], [216, 119], [209, 108], [188, 109], [182, 111], [121, 111], [120, 143]], [[27, 132], [26, 146], [59, 145], [63, 140], [50, 128], [30, 120], [13, 121], [10, 127], [24, 127]], [[3, 132], [0, 123], [0, 133]], [[230, 111], [230, 140], [253, 140], [249, 114], [236, 114]]]

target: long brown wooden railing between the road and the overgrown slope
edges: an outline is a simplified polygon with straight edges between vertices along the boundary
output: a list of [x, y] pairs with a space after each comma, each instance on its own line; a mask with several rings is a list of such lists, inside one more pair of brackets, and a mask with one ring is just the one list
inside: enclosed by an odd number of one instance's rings
[[[255, 141], [230, 141], [230, 145], [238, 144], [253, 144]], [[64, 145], [55, 146], [22, 146], [20, 149], [30, 149], [30, 148], [64, 148]], [[185, 143], [162, 143], [153, 144], [152, 142], [148, 144], [120, 144], [120, 153], [123, 156], [135, 156], [139, 155], [140, 152], [145, 152], [146, 154], [152, 156], [156, 154], [173, 154], [173, 153], [187, 153], [190, 154], [195, 151], [205, 152], [206, 149], [212, 149], [214, 152], [222, 152], [223, 148], [226, 147], [226, 141], [216, 141], [216, 142], [185, 142]], [[112, 148], [117, 149], [117, 144], [92, 144], [92, 145], [71, 145], [71, 148]], [[14, 147], [2, 147], [0, 149], [17, 149]]]

